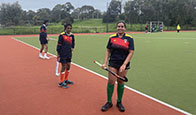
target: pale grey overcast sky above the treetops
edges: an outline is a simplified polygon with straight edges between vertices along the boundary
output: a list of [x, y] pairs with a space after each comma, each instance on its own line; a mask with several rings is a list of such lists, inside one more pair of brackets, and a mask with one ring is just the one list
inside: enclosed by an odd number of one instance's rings
[[1, 3], [14, 3], [18, 1], [23, 10], [37, 11], [40, 8], [52, 9], [56, 4], [64, 4], [71, 2], [74, 8], [81, 7], [83, 5], [91, 5], [95, 9], [99, 9], [102, 12], [106, 11], [107, 2], [111, 0], [0, 0]]

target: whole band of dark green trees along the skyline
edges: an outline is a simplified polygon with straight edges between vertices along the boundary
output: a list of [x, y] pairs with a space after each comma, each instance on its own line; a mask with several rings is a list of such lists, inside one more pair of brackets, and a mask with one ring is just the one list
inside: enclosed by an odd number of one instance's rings
[[104, 23], [122, 19], [134, 24], [163, 21], [167, 26], [196, 26], [196, 0], [127, 0], [123, 7], [120, 0], [111, 0], [103, 15], [89, 5], [74, 9], [70, 2], [57, 4], [52, 10], [41, 8], [36, 12], [23, 11], [18, 2], [0, 4], [0, 24], [3, 26], [38, 25], [45, 19], [63, 24], [73, 23], [73, 19], [91, 18], [103, 18]]

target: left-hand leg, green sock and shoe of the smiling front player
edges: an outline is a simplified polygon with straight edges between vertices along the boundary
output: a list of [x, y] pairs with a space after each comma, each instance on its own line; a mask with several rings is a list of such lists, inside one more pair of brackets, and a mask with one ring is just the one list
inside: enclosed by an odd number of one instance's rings
[[[109, 70], [117, 73], [117, 69], [113, 67], [109, 67]], [[107, 103], [102, 107], [102, 111], [107, 111], [109, 108], [113, 106], [112, 104], [112, 95], [114, 92], [114, 84], [116, 81], [116, 77], [114, 77], [111, 73], [108, 72], [108, 84], [107, 84]]]

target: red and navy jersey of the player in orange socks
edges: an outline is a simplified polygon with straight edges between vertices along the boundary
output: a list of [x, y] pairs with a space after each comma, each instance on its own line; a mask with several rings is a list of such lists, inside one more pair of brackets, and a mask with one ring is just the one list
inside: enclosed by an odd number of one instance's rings
[[57, 52], [61, 58], [72, 58], [71, 48], [75, 46], [74, 35], [67, 35], [67, 33], [63, 32], [59, 35], [58, 44], [57, 44]]

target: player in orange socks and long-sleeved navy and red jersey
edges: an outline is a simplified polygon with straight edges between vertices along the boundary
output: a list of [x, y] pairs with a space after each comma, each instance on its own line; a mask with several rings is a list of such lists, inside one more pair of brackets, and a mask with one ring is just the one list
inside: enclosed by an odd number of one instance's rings
[[68, 88], [68, 84], [73, 84], [68, 80], [72, 59], [72, 51], [75, 46], [74, 35], [71, 33], [72, 25], [64, 25], [65, 32], [59, 35], [57, 44], [57, 59], [62, 64], [59, 87]]

